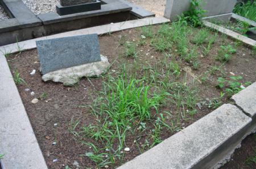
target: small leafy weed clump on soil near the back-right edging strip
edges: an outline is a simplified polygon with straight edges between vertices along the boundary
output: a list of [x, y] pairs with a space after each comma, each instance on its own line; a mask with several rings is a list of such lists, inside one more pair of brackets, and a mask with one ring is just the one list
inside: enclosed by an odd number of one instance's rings
[[221, 62], [227, 62], [232, 57], [231, 54], [236, 53], [237, 50], [232, 47], [232, 45], [221, 45], [220, 50], [218, 50], [218, 55], [216, 56], [216, 60]]

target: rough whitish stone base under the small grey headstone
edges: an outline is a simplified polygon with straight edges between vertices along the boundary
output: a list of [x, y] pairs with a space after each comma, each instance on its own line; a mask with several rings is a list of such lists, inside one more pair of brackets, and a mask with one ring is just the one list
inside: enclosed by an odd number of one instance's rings
[[72, 86], [79, 82], [79, 79], [82, 77], [94, 77], [105, 73], [109, 66], [108, 58], [101, 56], [100, 62], [93, 62], [90, 64], [52, 71], [44, 74], [42, 79], [44, 82], [53, 81], [64, 83], [64, 85], [67, 86]]

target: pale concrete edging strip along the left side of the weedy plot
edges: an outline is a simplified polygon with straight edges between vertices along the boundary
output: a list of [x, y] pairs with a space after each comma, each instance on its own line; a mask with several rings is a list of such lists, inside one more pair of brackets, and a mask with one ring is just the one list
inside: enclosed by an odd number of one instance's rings
[[0, 154], [3, 169], [47, 168], [5, 56], [0, 54]]

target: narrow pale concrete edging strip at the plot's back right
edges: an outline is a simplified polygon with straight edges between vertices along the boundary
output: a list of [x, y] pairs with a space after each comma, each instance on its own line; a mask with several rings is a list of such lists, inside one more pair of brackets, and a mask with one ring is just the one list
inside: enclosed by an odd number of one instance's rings
[[217, 26], [217, 24], [213, 24], [211, 22], [208, 22], [207, 20], [203, 20], [204, 26], [209, 27], [209, 28], [213, 28], [216, 29], [217, 31], [221, 32], [221, 33], [225, 33], [226, 35], [233, 37], [234, 39], [240, 40], [243, 43], [250, 45], [252, 47], [254, 47], [256, 45], [256, 41], [253, 39], [250, 39], [249, 37], [243, 36], [237, 32], [234, 31], [230, 31], [229, 29], [226, 29], [224, 27], [221, 26]]

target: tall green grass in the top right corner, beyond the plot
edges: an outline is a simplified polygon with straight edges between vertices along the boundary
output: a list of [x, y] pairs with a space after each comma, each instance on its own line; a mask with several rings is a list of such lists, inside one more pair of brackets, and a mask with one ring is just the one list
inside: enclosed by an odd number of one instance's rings
[[250, 20], [256, 22], [256, 2], [251, 3], [250, 1], [244, 3], [238, 3], [234, 8], [234, 13], [241, 15]]

